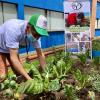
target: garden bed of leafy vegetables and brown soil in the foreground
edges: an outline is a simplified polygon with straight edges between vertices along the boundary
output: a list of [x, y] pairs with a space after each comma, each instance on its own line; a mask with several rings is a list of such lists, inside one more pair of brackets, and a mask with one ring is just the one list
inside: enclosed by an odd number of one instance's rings
[[10, 73], [0, 84], [0, 100], [99, 100], [100, 57], [87, 61], [86, 54], [71, 56], [62, 51], [48, 56], [44, 72], [37, 61], [25, 63], [33, 80], [17, 83]]

